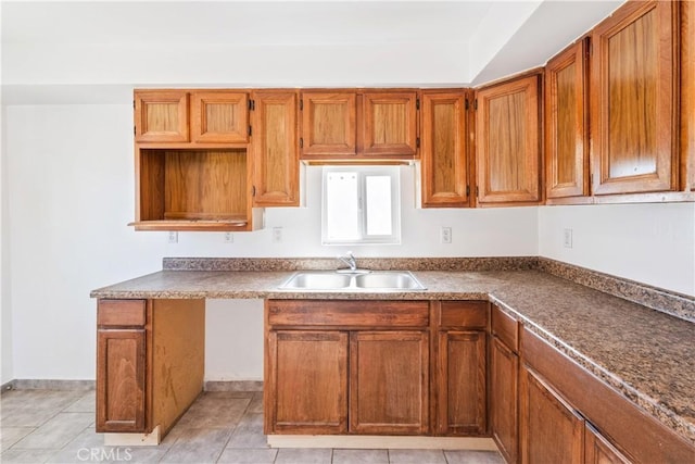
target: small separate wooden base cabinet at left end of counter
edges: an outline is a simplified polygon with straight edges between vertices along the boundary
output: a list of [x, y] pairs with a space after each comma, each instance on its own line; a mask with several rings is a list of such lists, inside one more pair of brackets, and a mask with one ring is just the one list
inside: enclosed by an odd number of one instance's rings
[[159, 444], [203, 391], [205, 300], [97, 306], [97, 422], [105, 444]]

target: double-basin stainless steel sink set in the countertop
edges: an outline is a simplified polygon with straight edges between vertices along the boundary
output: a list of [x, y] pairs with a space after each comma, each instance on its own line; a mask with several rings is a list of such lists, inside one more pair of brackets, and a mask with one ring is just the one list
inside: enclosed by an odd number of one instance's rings
[[412, 291], [427, 288], [409, 271], [371, 271], [367, 274], [336, 271], [299, 271], [279, 287], [303, 291]]

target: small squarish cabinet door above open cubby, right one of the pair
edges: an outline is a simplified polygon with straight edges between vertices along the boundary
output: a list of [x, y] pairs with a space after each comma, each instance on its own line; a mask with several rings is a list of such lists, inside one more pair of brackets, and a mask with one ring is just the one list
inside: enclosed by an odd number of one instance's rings
[[243, 143], [249, 140], [249, 97], [227, 90], [191, 93], [191, 139]]

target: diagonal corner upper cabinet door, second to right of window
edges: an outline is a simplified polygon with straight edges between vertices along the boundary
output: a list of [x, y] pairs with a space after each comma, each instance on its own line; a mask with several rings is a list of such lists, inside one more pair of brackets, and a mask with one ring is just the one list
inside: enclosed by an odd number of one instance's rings
[[539, 76], [484, 88], [476, 100], [478, 201], [538, 202]]

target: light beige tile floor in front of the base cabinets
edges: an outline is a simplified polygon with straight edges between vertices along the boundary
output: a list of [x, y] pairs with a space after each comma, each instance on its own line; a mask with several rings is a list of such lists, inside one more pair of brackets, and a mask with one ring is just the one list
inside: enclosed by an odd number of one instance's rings
[[263, 394], [205, 392], [159, 447], [105, 447], [94, 391], [10, 390], [0, 401], [2, 463], [501, 464], [497, 452], [269, 449]]

